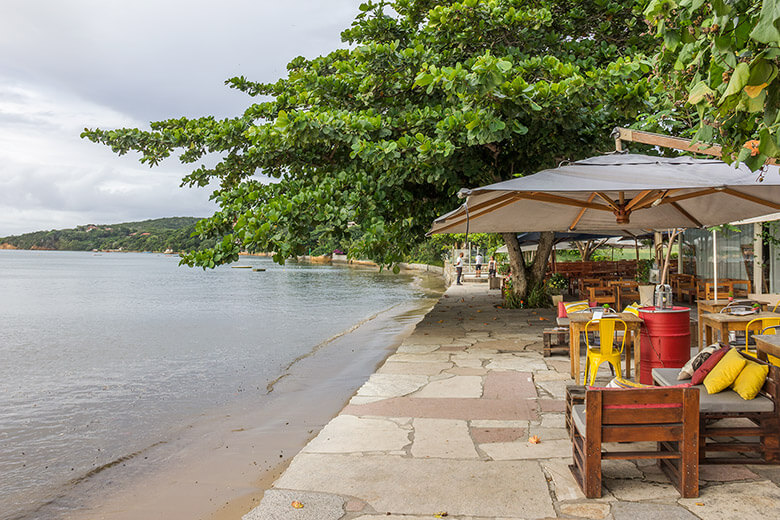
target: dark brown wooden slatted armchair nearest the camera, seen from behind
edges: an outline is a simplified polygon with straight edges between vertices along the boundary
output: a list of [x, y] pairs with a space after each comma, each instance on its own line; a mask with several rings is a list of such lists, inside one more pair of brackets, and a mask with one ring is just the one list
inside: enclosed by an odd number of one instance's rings
[[[603, 459], [658, 459], [683, 498], [699, 496], [698, 388], [588, 389], [571, 415], [569, 468], [586, 497], [601, 497]], [[657, 451], [603, 451], [605, 442], [645, 441]]]

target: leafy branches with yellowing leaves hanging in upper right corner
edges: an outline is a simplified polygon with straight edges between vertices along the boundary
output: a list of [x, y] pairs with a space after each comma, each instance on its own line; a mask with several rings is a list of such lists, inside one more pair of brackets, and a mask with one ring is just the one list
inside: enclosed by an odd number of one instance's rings
[[780, 0], [652, 0], [645, 16], [675, 104], [660, 124], [754, 170], [780, 158]]

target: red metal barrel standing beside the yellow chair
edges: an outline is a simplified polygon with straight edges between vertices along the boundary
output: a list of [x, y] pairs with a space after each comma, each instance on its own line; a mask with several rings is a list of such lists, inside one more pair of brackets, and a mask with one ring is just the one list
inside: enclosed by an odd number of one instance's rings
[[644, 320], [640, 335], [640, 383], [653, 384], [654, 368], [681, 368], [690, 359], [690, 312], [688, 307], [639, 309], [639, 317]]

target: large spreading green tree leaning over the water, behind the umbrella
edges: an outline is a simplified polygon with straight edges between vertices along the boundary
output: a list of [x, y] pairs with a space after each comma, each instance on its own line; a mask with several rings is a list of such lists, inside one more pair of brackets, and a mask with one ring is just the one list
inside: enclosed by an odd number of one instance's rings
[[[197, 228], [219, 242], [184, 263], [213, 267], [242, 248], [283, 262], [312, 233], [339, 239], [357, 225], [350, 254], [389, 265], [460, 188], [609, 150], [609, 130], [647, 109], [641, 53], [652, 38], [634, 2], [371, 0], [360, 11], [342, 33], [348, 49], [296, 58], [272, 84], [229, 80], [256, 100], [239, 117], [82, 134], [150, 165], [174, 150], [184, 163], [222, 154], [183, 179], [217, 181], [220, 206]], [[514, 234], [506, 239], [525, 294], [544, 275], [552, 236], [530, 267]]]

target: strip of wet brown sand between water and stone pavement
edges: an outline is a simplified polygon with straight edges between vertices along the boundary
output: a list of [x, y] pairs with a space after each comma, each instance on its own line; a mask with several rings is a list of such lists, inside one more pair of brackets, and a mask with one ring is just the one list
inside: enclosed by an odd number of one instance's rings
[[[428, 277], [417, 283], [443, 289]], [[240, 519], [435, 302], [380, 313], [297, 360], [267, 395], [204, 413], [167, 442], [81, 483], [77, 498], [61, 499], [73, 502], [65, 518]]]

